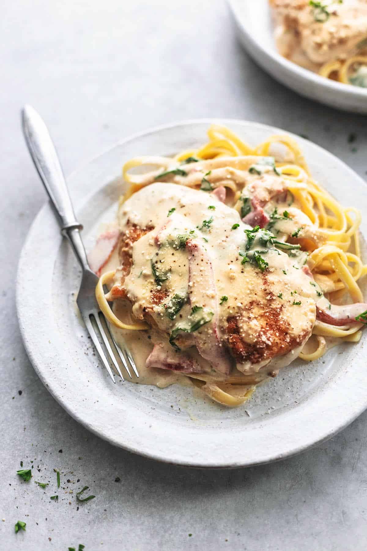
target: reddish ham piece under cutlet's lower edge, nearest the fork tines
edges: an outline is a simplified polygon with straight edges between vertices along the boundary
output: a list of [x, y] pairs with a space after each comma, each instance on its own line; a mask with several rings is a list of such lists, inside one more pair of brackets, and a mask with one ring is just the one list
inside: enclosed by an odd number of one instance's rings
[[147, 368], [170, 369], [180, 373], [202, 373], [199, 362], [182, 352], [176, 352], [169, 345], [155, 344], [146, 359]]

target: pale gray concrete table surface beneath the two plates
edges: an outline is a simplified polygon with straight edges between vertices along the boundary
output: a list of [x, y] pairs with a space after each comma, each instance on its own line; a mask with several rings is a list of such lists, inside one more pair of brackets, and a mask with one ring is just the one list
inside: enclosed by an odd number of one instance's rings
[[[3, 3], [1, 28], [1, 551], [366, 549], [366, 413], [325, 444], [257, 468], [191, 470], [130, 455], [48, 394], [14, 299], [19, 253], [45, 201], [20, 132], [25, 102], [45, 118], [66, 174], [132, 132], [232, 117], [306, 134], [365, 176], [366, 118], [304, 100], [262, 72], [222, 0], [20, 0]], [[352, 193], [346, 182], [346, 203]], [[20, 461], [50, 485], [23, 482]], [[84, 485], [96, 498], [78, 509]], [[26, 531], [15, 534], [18, 520]]]

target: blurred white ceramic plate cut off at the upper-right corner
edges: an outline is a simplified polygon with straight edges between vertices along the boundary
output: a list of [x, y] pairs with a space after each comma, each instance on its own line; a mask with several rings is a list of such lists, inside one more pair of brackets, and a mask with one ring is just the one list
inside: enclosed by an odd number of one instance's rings
[[320, 77], [277, 52], [269, 0], [228, 0], [228, 4], [245, 50], [272, 77], [306, 98], [336, 109], [367, 113], [367, 89]]

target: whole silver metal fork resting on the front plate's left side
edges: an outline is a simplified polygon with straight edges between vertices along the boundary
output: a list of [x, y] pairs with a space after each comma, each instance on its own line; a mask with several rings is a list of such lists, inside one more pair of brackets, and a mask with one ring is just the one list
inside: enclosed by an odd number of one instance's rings
[[[130, 379], [132, 375], [129, 366], [133, 369], [135, 375], [139, 377], [132, 355], [126, 347], [122, 350], [116, 344], [109, 332], [105, 316], [103, 316], [98, 306], [95, 295], [98, 277], [89, 267], [83, 241], [79, 233], [83, 229], [83, 226], [75, 218], [61, 164], [46, 125], [41, 116], [30, 105], [26, 105], [21, 111], [21, 125], [29, 153], [40, 175], [43, 186], [45, 186], [48, 197], [50, 197], [53, 212], [61, 228], [61, 233], [64, 237], [67, 237], [83, 271], [76, 304], [78, 304], [85, 327], [113, 382], [116, 381], [114, 380], [111, 365], [116, 368], [119, 376], [124, 380], [117, 358], [122, 361]], [[106, 353], [102, 348], [100, 340], [105, 346]], [[117, 354], [113, 352], [112, 348], [116, 349]]]

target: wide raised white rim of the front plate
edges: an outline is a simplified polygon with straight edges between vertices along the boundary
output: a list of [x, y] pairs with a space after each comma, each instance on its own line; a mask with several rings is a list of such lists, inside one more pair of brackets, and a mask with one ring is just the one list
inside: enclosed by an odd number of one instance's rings
[[[209, 126], [211, 122], [222, 123], [237, 131], [241, 128], [248, 132], [251, 129], [261, 130], [264, 137], [284, 132], [278, 128], [247, 121], [193, 120], [134, 134], [119, 142], [116, 148], [131, 142], [138, 144], [139, 139], [157, 137], [160, 132], [180, 132], [183, 128], [188, 129], [195, 125], [201, 125], [204, 129], [204, 126]], [[302, 145], [307, 159], [317, 158], [318, 163], [322, 160], [322, 164], [333, 165], [341, 175], [341, 180], [353, 182], [355, 203], [367, 212], [365, 182], [352, 169], [319, 146], [289, 132], [288, 134]], [[75, 183], [79, 181], [81, 174], [85, 179], [88, 174], [95, 172], [98, 159], [114, 149], [107, 150], [69, 177], [76, 213], [87, 201], [87, 197], [83, 195], [85, 190], [75, 190]], [[100, 187], [103, 187], [103, 182]], [[64, 388], [59, 381], [50, 376], [45, 364], [45, 358], [51, 358], [56, 365], [62, 362], [58, 357], [59, 350], [48, 339], [52, 320], [47, 317], [47, 312], [50, 311], [51, 305], [47, 304], [47, 297], [45, 299], [44, 296], [47, 293], [43, 292], [51, 286], [50, 278], [47, 279], [43, 273], [44, 268], [48, 266], [50, 271], [61, 244], [57, 224], [53, 224], [53, 220], [51, 207], [46, 203], [37, 214], [21, 252], [17, 277], [19, 326], [31, 363], [43, 384], [58, 403], [92, 433], [113, 445], [158, 461], [190, 467], [237, 468], [278, 461], [306, 450], [342, 430], [367, 408], [364, 338], [363, 344], [357, 345], [354, 349], [352, 365], [343, 365], [340, 372], [331, 377], [320, 392], [311, 394], [297, 407], [275, 416], [270, 423], [260, 418], [240, 431], [222, 430], [222, 427], [218, 434], [215, 429], [203, 431], [198, 426], [162, 424], [160, 419], [152, 421], [150, 415], [145, 415], [144, 412], [139, 412], [139, 408], [135, 408], [125, 409], [125, 430], [122, 435], [117, 436], [120, 421], [114, 416], [114, 411], [108, 411], [108, 407], [98, 412], [94, 407], [86, 408], [80, 401], [80, 396], [83, 395], [83, 388], [80, 387], [74, 388], [70, 385], [70, 393], [65, 395]], [[365, 221], [362, 232], [364, 235], [367, 233]], [[37, 263], [34, 262], [35, 251]], [[37, 323], [34, 322], [34, 315], [38, 315]], [[138, 431], [135, 431], [136, 415], [139, 420]]]

